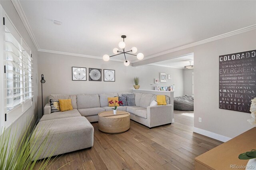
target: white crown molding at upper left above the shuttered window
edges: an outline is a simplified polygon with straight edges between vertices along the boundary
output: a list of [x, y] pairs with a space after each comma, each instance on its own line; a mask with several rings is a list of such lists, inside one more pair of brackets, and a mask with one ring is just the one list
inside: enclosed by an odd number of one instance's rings
[[22, 23], [24, 24], [27, 32], [28, 32], [28, 35], [30, 36], [32, 42], [34, 43], [35, 47], [37, 50], [40, 49], [38, 43], [36, 42], [36, 38], [30, 28], [30, 25], [28, 24], [28, 20], [24, 14], [24, 11], [20, 5], [20, 1], [19, 0], [11, 0], [12, 1], [12, 4], [14, 5], [14, 8], [16, 9], [16, 11], [18, 12], [18, 15], [20, 16], [20, 19], [22, 21]]

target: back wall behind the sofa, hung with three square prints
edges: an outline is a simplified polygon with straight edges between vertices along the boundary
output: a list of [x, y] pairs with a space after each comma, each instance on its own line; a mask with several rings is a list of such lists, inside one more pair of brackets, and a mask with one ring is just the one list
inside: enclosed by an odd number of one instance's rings
[[[108, 93], [108, 92], [132, 92], [134, 89], [133, 78], [140, 78], [140, 89], [154, 89], [154, 79], [160, 77], [160, 72], [172, 74], [172, 79], [167, 83], [157, 85], [168, 86], [175, 84], [174, 95], [183, 95], [183, 70], [154, 65], [139, 67], [126, 67], [123, 62], [103, 61], [86, 57], [76, 57], [55, 53], [38, 52], [38, 80], [44, 74], [46, 83], [43, 84], [44, 105], [48, 102], [50, 94], [80, 94], [80, 93]], [[86, 67], [87, 81], [72, 81], [72, 67]], [[88, 69], [99, 68], [113, 69], [116, 72], [115, 82], [89, 81]], [[154, 84], [154, 85], [150, 85]], [[42, 115], [41, 107], [41, 83], [38, 84], [38, 113]]]

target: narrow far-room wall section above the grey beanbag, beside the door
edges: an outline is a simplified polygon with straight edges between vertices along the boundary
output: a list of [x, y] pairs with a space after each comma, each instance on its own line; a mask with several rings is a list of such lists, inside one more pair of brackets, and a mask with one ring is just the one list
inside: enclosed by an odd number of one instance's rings
[[183, 70], [184, 95], [193, 95], [192, 94], [192, 73], [193, 72], [194, 72], [194, 69]]

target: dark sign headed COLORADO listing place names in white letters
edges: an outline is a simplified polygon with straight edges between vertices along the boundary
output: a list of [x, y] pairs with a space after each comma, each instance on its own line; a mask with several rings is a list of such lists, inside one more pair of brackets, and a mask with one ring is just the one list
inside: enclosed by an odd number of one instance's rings
[[219, 56], [219, 108], [250, 113], [256, 97], [256, 50]]

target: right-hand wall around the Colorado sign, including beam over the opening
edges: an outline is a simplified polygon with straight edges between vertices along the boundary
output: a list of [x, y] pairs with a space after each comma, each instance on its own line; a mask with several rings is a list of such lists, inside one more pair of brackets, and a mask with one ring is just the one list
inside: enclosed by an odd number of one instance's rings
[[[247, 122], [249, 113], [218, 108], [219, 55], [256, 48], [256, 30], [151, 58], [134, 65], [164, 61], [194, 52], [194, 127], [233, 138], [254, 127]], [[202, 118], [202, 123], [198, 122]], [[175, 116], [174, 116], [175, 119]]]

